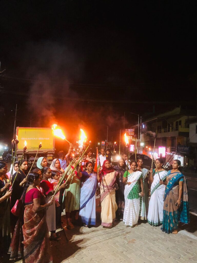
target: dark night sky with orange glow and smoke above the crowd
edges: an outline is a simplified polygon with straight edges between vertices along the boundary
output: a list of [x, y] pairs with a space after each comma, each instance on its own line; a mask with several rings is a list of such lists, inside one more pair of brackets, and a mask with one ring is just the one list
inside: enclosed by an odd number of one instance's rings
[[124, 112], [130, 127], [153, 105], [195, 109], [196, 1], [129, 3], [1, 1], [1, 138], [16, 103], [17, 126], [58, 122], [73, 140], [105, 138], [101, 124], [116, 139]]

